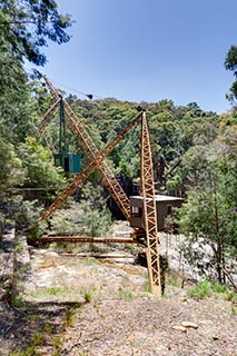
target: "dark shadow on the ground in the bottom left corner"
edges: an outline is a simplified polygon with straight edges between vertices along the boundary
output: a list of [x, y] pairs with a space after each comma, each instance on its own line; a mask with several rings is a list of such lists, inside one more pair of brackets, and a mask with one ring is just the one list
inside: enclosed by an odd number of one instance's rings
[[77, 312], [86, 303], [23, 303], [20, 308], [2, 305], [0, 310], [0, 355], [59, 355], [61, 335], [73, 326]]

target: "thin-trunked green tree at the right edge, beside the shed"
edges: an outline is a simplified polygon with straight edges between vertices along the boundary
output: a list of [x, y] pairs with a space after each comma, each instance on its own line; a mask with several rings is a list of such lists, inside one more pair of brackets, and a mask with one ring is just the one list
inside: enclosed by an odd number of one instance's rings
[[185, 155], [189, 190], [179, 210], [181, 231], [189, 241], [203, 239], [211, 246], [220, 283], [226, 280], [226, 256], [237, 247], [236, 164], [233, 166], [226, 155], [230, 147], [224, 146], [224, 138], [221, 135], [213, 142], [196, 145]]

